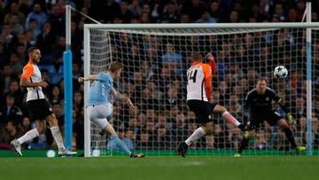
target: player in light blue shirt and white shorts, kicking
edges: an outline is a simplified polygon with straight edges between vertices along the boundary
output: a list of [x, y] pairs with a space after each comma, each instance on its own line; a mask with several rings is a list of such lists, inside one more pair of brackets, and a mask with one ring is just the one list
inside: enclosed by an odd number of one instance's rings
[[113, 126], [107, 121], [107, 117], [111, 116], [113, 112], [113, 105], [108, 100], [110, 92], [115, 98], [125, 101], [129, 108], [134, 107], [128, 97], [123, 96], [113, 88], [113, 79], [117, 79], [121, 76], [122, 67], [120, 62], [114, 61], [109, 64], [109, 71], [100, 74], [91, 74], [87, 77], [79, 77], [79, 82], [94, 81], [89, 89], [88, 103], [85, 105], [90, 121], [94, 121], [105, 134], [112, 137], [113, 143], [117, 145], [123, 153], [128, 154], [129, 157], [143, 158], [143, 153], [131, 153], [128, 150], [127, 145], [121, 141], [113, 129]]

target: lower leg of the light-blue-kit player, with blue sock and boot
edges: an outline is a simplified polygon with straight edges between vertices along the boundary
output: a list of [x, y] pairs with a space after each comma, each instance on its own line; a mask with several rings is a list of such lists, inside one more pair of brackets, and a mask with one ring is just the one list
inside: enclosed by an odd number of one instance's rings
[[117, 145], [123, 153], [128, 154], [129, 157], [144, 158], [145, 155], [143, 153], [131, 153], [128, 150], [128, 146], [121, 141], [120, 137], [116, 134], [115, 130], [113, 129], [113, 126], [110, 123], [107, 123], [105, 129], [102, 129], [102, 131], [109, 137], [112, 137], [115, 145]]

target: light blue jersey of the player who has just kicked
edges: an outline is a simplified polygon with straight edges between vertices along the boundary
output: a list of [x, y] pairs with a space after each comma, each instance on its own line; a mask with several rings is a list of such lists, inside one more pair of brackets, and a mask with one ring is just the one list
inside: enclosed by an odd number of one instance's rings
[[108, 95], [113, 87], [113, 78], [109, 73], [97, 74], [97, 80], [89, 89], [89, 99], [86, 106], [96, 106], [109, 103]]

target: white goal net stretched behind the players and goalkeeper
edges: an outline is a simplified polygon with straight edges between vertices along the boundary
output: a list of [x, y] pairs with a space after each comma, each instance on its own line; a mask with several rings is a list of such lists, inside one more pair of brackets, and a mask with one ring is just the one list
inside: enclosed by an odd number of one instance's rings
[[[141, 25], [142, 26], [142, 25]], [[312, 147], [318, 150], [319, 31], [312, 31]], [[110, 121], [128, 148], [147, 155], [175, 155], [175, 148], [198, 128], [186, 102], [186, 70], [191, 54], [214, 54], [213, 102], [225, 106], [238, 121], [247, 122], [243, 105], [256, 80], [268, 78], [268, 86], [284, 99], [297, 126], [292, 128], [299, 145], [307, 145], [307, 43], [306, 28], [87, 28], [86, 74], [106, 71], [111, 61], [123, 65], [114, 87], [127, 95], [135, 109], [112, 99]], [[276, 79], [273, 69], [283, 65], [289, 74]], [[86, 92], [89, 85], [86, 86]], [[284, 112], [274, 104], [281, 115]], [[100, 136], [86, 117], [86, 151], [89, 156], [121, 155], [112, 140]], [[214, 114], [213, 131], [191, 145], [189, 155], [232, 155], [242, 134]], [[262, 123], [245, 149], [250, 155], [290, 154], [290, 144], [278, 126]]]

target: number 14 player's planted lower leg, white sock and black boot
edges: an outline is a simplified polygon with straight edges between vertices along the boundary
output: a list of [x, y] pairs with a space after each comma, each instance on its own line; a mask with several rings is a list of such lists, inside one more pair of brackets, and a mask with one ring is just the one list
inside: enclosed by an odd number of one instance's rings
[[198, 129], [196, 129], [190, 137], [188, 137], [183, 143], [180, 143], [177, 146], [177, 153], [182, 157], [186, 156], [188, 147], [195, 143], [200, 137], [204, 137], [206, 133], [210, 132], [213, 129], [213, 123], [207, 122], [202, 124]]

